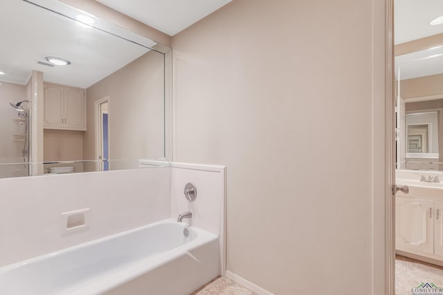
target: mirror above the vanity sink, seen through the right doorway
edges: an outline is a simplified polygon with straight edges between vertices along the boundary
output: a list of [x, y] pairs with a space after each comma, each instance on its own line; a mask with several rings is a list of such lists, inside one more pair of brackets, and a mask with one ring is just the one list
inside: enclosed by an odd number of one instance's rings
[[397, 169], [443, 170], [443, 34], [397, 44]]

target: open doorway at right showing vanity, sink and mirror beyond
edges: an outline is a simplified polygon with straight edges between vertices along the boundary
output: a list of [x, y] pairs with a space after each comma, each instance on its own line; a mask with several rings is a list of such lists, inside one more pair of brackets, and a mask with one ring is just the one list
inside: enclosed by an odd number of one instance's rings
[[443, 294], [443, 3], [395, 0], [393, 15], [391, 293]]

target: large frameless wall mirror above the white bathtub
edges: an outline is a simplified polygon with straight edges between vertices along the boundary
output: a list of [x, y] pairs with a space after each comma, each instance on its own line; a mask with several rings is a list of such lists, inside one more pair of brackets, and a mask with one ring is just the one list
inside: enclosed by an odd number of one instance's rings
[[0, 6], [0, 178], [165, 158], [169, 48], [59, 1]]

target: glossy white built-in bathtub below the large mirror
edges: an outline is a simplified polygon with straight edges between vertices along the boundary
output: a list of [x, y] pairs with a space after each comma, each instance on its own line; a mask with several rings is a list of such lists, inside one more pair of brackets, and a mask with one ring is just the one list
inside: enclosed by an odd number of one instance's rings
[[162, 220], [0, 267], [0, 294], [188, 295], [219, 275], [219, 239], [184, 227]]

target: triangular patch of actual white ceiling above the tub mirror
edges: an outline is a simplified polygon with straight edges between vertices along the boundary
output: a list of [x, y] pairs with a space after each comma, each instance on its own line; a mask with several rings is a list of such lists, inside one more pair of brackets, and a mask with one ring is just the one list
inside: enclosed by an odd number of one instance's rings
[[96, 0], [174, 36], [232, 0]]

